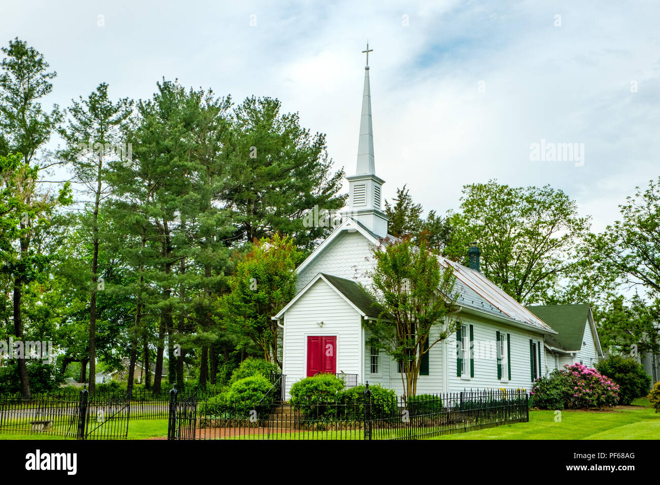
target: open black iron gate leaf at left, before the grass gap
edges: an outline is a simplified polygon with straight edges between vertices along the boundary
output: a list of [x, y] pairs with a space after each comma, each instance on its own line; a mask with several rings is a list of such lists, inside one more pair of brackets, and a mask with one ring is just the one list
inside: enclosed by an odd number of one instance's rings
[[84, 423], [79, 426], [79, 439], [126, 439], [131, 414], [131, 402], [127, 397], [81, 396], [81, 416]]

